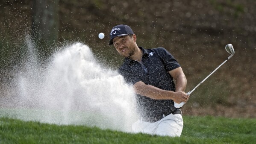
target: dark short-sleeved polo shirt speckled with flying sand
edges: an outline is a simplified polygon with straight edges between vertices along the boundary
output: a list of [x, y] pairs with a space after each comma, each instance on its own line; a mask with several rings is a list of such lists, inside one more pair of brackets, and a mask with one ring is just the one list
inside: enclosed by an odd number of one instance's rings
[[[175, 91], [173, 78], [168, 71], [180, 67], [177, 60], [162, 47], [139, 48], [143, 51], [141, 63], [126, 58], [124, 64], [119, 68], [119, 73], [124, 76], [126, 82], [134, 85], [136, 82], [142, 81], [163, 90]], [[176, 110], [173, 100], [153, 100], [137, 95], [138, 112], [145, 121], [160, 120], [163, 118], [162, 114], [168, 115]]]

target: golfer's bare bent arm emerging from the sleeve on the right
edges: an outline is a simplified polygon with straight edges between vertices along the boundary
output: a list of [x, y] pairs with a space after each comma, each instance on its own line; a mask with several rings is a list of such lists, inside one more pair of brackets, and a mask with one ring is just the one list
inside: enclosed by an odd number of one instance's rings
[[175, 68], [172, 71], [169, 71], [168, 73], [171, 74], [171, 76], [175, 79], [176, 85], [175, 85], [175, 91], [185, 91], [186, 85], [187, 85], [187, 79], [185, 74], [182, 71], [182, 68]]

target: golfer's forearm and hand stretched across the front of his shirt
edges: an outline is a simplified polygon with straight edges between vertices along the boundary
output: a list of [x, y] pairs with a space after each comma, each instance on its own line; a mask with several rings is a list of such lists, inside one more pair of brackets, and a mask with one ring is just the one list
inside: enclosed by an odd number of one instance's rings
[[187, 102], [189, 96], [183, 91], [166, 91], [144, 82], [136, 82], [133, 85], [136, 94], [140, 94], [155, 100], [174, 100], [175, 103]]

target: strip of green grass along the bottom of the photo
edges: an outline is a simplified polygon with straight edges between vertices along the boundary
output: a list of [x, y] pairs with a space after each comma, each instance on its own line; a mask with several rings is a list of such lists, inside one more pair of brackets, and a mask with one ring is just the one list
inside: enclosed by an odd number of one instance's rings
[[256, 119], [184, 116], [181, 137], [0, 118], [0, 144], [256, 144]]

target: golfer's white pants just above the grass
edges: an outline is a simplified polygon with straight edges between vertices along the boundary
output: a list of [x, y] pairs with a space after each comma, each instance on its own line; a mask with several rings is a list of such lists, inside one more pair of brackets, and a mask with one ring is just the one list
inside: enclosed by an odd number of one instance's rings
[[147, 133], [150, 135], [161, 135], [179, 137], [183, 129], [183, 119], [180, 114], [170, 114], [154, 123], [137, 120], [132, 124], [135, 133]]

